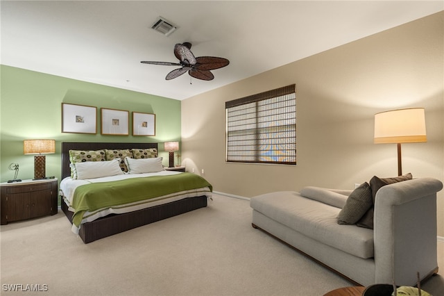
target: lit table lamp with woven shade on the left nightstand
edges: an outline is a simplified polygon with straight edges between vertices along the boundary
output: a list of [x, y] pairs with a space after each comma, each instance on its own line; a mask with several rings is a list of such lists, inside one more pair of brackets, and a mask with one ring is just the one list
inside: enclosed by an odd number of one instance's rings
[[[42, 154], [56, 153], [56, 140], [34, 139], [23, 141], [24, 154], [38, 154], [34, 156], [34, 179], [46, 178], [46, 157]], [[48, 177], [46, 179], [53, 178]]]

